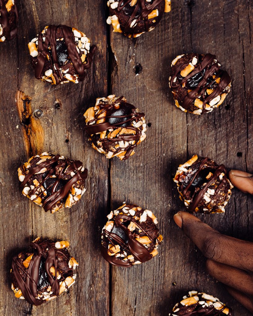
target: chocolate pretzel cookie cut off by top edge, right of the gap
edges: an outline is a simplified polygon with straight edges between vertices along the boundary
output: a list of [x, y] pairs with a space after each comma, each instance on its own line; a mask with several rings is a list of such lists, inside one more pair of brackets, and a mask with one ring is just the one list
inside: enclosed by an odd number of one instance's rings
[[170, 11], [170, 0], [109, 0], [108, 24], [113, 31], [127, 37], [138, 37], [152, 31], [164, 12]]

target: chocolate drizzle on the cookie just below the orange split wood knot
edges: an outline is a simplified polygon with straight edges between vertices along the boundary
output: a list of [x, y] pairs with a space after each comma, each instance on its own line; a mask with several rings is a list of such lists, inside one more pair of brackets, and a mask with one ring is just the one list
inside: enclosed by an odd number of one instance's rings
[[[88, 175], [87, 169], [84, 169], [83, 172], [78, 170], [83, 165], [81, 161], [76, 160], [71, 162], [70, 165], [68, 165], [66, 159], [59, 158], [60, 155], [56, 155], [51, 159], [46, 159], [46, 161], [40, 162], [35, 167], [31, 167], [22, 182], [22, 188], [24, 188], [29, 179], [31, 179], [31, 177], [34, 174], [40, 172], [40, 170], [42, 170], [43, 168], [47, 169], [43, 174], [43, 179], [39, 183], [39, 185], [35, 187], [33, 190], [31, 190], [30, 194], [32, 196], [38, 191], [38, 189], [42, 185], [46, 183], [46, 181], [48, 181], [50, 176], [59, 173], [58, 176], [56, 176], [56, 178], [53, 178], [54, 181], [46, 187], [47, 196], [43, 200], [43, 207], [46, 212], [52, 210], [56, 203], [58, 203], [68, 195], [72, 185], [74, 185], [79, 180], [84, 181]], [[62, 184], [62, 179], [69, 177], [72, 172], [74, 172], [75, 174], [71, 176], [69, 180], [64, 180], [64, 183]], [[42, 196], [42, 194], [43, 190], [42, 192], [40, 192], [40, 194], [37, 195]]]

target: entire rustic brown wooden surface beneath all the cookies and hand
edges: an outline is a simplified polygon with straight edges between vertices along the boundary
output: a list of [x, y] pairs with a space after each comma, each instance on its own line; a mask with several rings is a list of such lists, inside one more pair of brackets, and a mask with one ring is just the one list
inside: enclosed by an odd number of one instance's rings
[[[174, 224], [183, 205], [172, 176], [195, 153], [253, 172], [252, 1], [172, 0], [172, 11], [138, 39], [112, 33], [105, 0], [26, 0], [18, 7], [18, 37], [0, 44], [0, 314], [165, 316], [187, 290], [198, 289], [218, 296], [235, 316], [250, 315], [207, 275], [205, 259]], [[51, 86], [34, 78], [27, 43], [48, 24], [77, 27], [98, 46], [83, 83]], [[201, 117], [177, 109], [168, 87], [171, 60], [192, 51], [216, 54], [232, 77], [225, 104]], [[33, 113], [43, 111], [35, 118], [45, 133], [42, 148], [88, 168], [87, 192], [71, 210], [45, 213], [21, 195], [16, 169], [28, 153], [27, 126], [15, 106], [18, 90], [31, 97]], [[124, 94], [149, 123], [147, 140], [125, 162], [97, 153], [83, 131], [85, 109], [111, 93]], [[123, 201], [152, 210], [164, 235], [159, 256], [129, 269], [109, 267], [99, 252], [105, 216]], [[226, 214], [201, 219], [253, 241], [253, 199], [236, 189]], [[14, 297], [9, 269], [12, 256], [37, 236], [69, 240], [80, 265], [69, 294], [31, 307]]]

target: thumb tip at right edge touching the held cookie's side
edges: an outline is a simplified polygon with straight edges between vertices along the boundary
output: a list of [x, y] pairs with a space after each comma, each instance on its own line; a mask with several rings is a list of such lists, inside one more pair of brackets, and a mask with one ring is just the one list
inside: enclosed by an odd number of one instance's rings
[[240, 170], [231, 170], [229, 179], [234, 186], [244, 193], [253, 194], [253, 175]]

